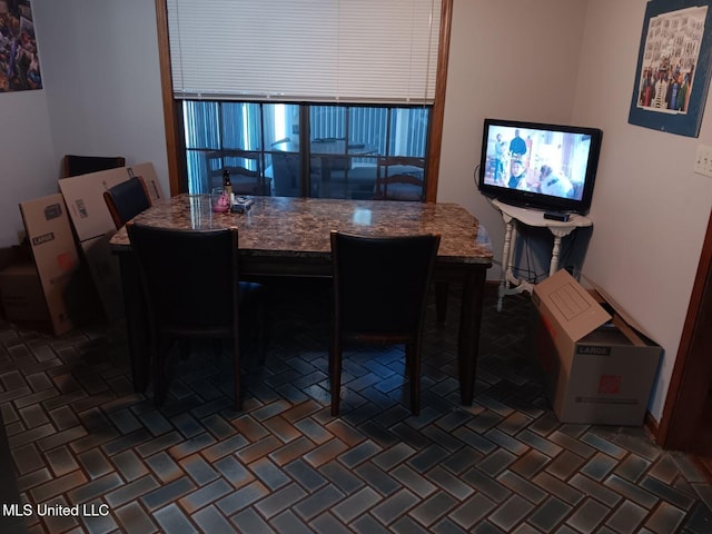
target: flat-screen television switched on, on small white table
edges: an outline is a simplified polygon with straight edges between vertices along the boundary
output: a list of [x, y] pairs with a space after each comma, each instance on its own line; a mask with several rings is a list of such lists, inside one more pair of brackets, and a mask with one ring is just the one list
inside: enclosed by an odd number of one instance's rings
[[505, 204], [585, 215], [602, 138], [597, 128], [485, 119], [477, 187]]

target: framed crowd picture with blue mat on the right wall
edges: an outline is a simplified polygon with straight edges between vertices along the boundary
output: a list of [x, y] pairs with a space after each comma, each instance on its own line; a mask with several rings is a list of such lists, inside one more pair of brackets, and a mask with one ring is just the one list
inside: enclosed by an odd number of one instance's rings
[[652, 0], [645, 8], [631, 125], [698, 137], [710, 85], [710, 0]]

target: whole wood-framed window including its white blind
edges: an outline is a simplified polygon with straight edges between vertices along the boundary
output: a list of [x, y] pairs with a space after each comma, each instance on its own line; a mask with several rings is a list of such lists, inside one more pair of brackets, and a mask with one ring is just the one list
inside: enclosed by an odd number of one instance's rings
[[388, 155], [434, 159], [436, 179], [451, 11], [452, 0], [157, 0], [171, 192], [205, 190], [227, 167], [274, 194], [286, 167], [300, 194], [357, 198]]

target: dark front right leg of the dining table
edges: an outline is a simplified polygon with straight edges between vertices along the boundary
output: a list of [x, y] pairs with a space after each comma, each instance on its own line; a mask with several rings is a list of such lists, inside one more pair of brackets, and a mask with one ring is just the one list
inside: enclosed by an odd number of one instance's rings
[[459, 398], [471, 406], [475, 396], [475, 373], [479, 355], [479, 327], [485, 289], [486, 267], [473, 268], [463, 278], [463, 301], [459, 314], [457, 364]]

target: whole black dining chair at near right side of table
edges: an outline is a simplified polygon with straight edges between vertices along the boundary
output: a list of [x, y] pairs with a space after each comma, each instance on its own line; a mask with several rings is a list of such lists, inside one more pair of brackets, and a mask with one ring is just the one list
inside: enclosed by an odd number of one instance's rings
[[332, 231], [332, 415], [338, 415], [345, 343], [404, 344], [411, 412], [419, 413], [427, 289], [441, 236], [367, 237]]

